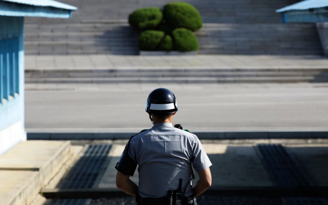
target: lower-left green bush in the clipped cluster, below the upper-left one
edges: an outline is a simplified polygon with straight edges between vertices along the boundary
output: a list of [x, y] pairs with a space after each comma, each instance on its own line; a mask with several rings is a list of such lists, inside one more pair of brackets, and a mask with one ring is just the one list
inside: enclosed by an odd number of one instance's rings
[[138, 38], [139, 49], [141, 51], [155, 51], [164, 35], [164, 31], [147, 30], [141, 32]]

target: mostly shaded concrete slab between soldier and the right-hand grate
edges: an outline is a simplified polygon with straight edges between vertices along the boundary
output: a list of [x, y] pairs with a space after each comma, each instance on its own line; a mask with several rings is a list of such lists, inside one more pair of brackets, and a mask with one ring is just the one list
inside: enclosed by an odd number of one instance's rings
[[[215, 187], [273, 186], [252, 144], [202, 144], [212, 166], [212, 189]], [[194, 183], [196, 182], [195, 179]]]

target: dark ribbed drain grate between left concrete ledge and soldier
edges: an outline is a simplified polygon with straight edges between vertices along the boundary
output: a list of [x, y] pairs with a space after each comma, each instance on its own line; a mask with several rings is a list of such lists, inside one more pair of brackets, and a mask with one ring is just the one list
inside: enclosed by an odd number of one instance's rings
[[111, 146], [110, 144], [90, 144], [83, 156], [63, 177], [57, 188], [92, 188]]

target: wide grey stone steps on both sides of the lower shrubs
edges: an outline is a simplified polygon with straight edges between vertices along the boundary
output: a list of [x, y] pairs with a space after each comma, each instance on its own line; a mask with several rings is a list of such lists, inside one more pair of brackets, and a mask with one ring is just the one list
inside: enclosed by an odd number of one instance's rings
[[[123, 21], [91, 22], [26, 25], [26, 54], [138, 54], [138, 33]], [[322, 54], [308, 24], [204, 24], [196, 35], [200, 54]]]

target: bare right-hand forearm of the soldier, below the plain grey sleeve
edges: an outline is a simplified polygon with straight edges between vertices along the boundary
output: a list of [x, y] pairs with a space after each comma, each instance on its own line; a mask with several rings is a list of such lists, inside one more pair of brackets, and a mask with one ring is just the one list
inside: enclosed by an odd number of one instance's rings
[[212, 184], [212, 175], [209, 167], [197, 172], [197, 174], [199, 176], [199, 180], [193, 187], [195, 197], [203, 194]]

